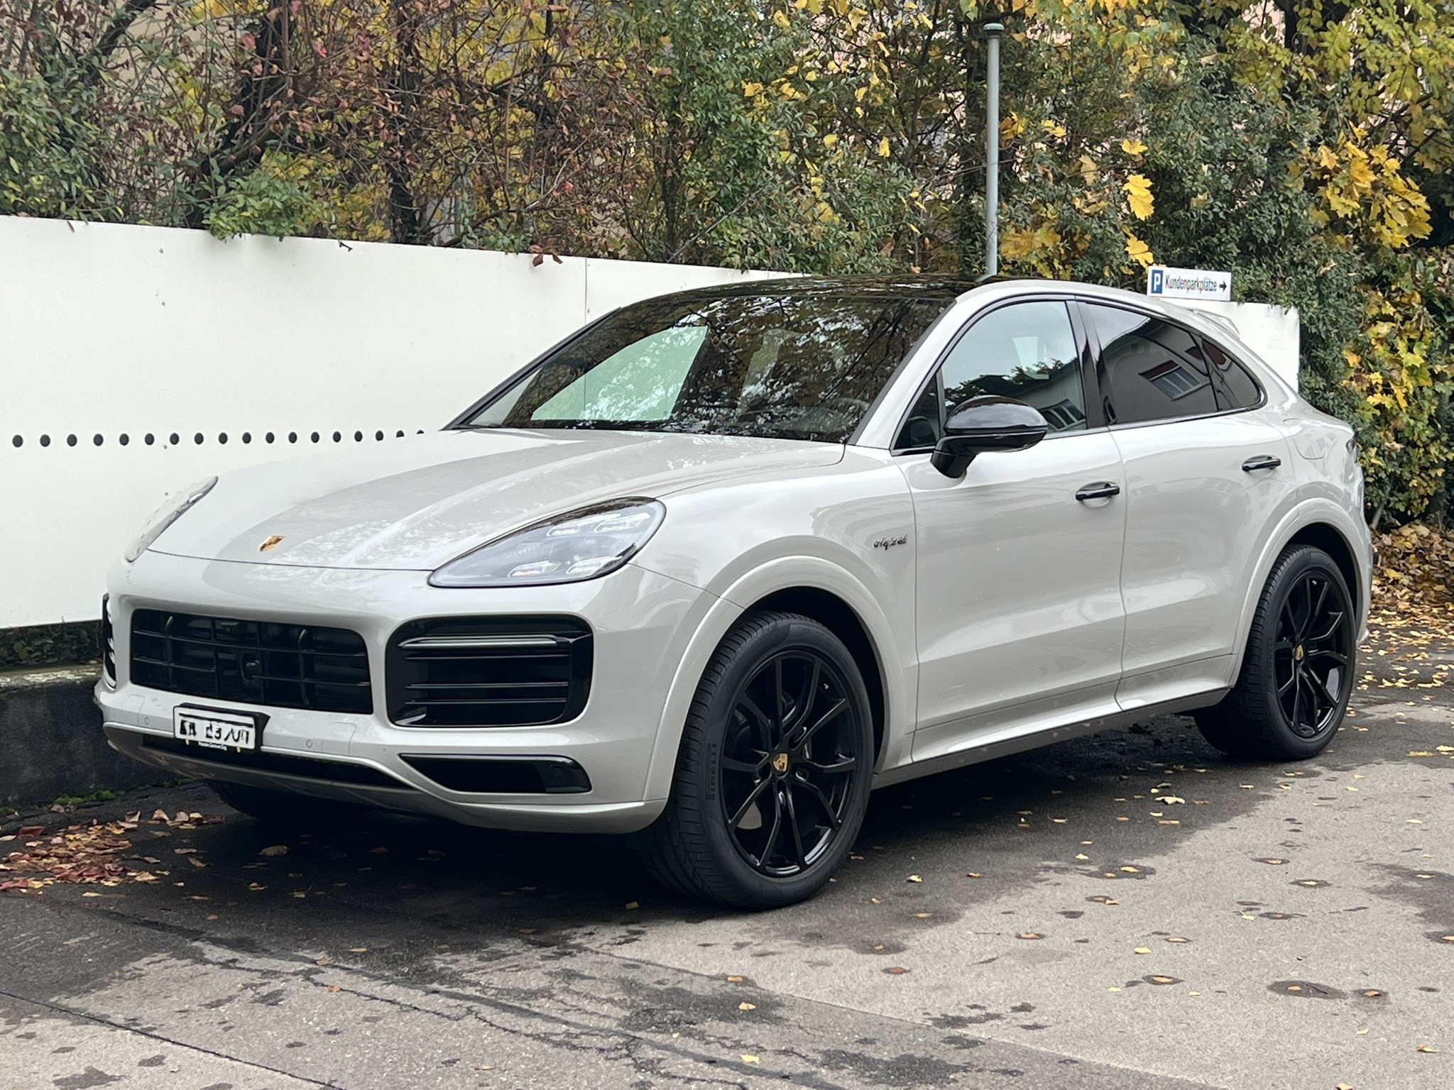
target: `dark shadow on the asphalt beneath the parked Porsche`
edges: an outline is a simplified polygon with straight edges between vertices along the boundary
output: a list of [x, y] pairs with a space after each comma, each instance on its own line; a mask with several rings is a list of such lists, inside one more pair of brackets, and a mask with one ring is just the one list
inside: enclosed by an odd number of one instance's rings
[[[1317, 764], [1277, 775], [1316, 778]], [[776, 913], [772, 926], [791, 933], [811, 921], [822, 934], [824, 921], [846, 921], [856, 905], [925, 897], [926, 888], [913, 888], [916, 872], [983, 873], [983, 882], [935, 891], [941, 926], [980, 900], [1082, 866], [1067, 860], [1089, 841], [1098, 862], [1086, 862], [1085, 873], [1104, 873], [1106, 882], [1143, 878], [1154, 873], [1146, 859], [1253, 808], [1262, 792], [1240, 789], [1240, 782], [1259, 767], [1266, 783], [1266, 770], [1277, 766], [1227, 762], [1189, 719], [1165, 716], [885, 788], [874, 794], [836, 881], [811, 904]], [[231, 811], [198, 783], [64, 818], [51, 814], [45, 824], [49, 833], [61, 821], [92, 812], [115, 818], [126, 807], [142, 812], [126, 833], [131, 850], [122, 862], [154, 881], [84, 892], [55, 884], [51, 895], [99, 897], [87, 907], [202, 933], [276, 927], [300, 939], [323, 937], [334, 927], [356, 934], [388, 920], [397, 934], [404, 920], [436, 937], [452, 936], [435, 943], [451, 946], [487, 946], [522, 933], [535, 942], [566, 940], [579, 929], [630, 932], [737, 914], [667, 892], [611, 839], [478, 830], [385, 812], [336, 828], [278, 828]], [[1122, 871], [1106, 859], [1136, 868]]]

